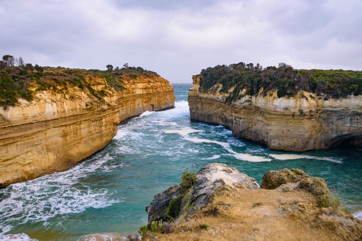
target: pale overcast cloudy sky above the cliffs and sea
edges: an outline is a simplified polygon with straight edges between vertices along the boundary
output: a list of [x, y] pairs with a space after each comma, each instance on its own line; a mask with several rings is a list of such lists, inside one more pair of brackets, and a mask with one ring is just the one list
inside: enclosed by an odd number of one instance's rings
[[0, 55], [142, 67], [171, 83], [238, 62], [362, 70], [362, 0], [0, 0]]

